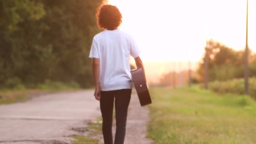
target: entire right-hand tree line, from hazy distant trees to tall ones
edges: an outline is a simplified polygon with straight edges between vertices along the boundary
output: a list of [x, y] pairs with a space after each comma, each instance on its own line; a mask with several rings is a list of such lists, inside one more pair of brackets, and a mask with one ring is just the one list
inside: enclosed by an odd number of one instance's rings
[[[205, 47], [206, 48], [206, 47]], [[220, 43], [219, 41], [209, 40], [197, 70], [192, 71], [192, 83], [203, 83], [205, 80], [205, 57], [208, 57], [208, 79], [213, 81], [227, 81], [244, 77], [245, 52], [244, 50], [235, 51], [233, 48]], [[256, 54], [249, 51], [249, 76], [256, 77]], [[160, 79], [162, 85], [178, 85], [179, 73], [169, 72]], [[174, 79], [173, 79], [174, 77]], [[183, 83], [188, 83], [188, 71], [182, 72]], [[243, 84], [243, 83], [242, 83]]]

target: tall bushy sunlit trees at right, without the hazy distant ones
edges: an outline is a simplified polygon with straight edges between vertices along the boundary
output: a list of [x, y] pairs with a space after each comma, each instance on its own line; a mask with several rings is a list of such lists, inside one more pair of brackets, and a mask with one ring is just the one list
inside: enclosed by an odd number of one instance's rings
[[[242, 78], [244, 76], [244, 51], [235, 51], [232, 48], [223, 45], [214, 40], [208, 41], [208, 55], [203, 56], [202, 62], [197, 69], [200, 75], [199, 80], [204, 81], [205, 75], [205, 57], [208, 57], [209, 81], [231, 80], [233, 78]], [[250, 76], [256, 75], [256, 55], [249, 51]]]

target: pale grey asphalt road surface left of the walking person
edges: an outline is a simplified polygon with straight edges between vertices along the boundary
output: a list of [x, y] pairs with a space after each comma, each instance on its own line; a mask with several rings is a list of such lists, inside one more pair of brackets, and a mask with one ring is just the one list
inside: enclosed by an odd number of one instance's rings
[[68, 144], [73, 127], [100, 117], [93, 91], [48, 94], [27, 102], [0, 105], [0, 143]]

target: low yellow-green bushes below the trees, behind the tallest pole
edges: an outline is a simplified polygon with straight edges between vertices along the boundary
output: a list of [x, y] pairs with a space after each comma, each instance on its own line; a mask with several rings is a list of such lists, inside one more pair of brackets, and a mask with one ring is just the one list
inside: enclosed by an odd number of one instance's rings
[[[244, 79], [232, 79], [227, 81], [213, 81], [209, 83], [209, 89], [218, 93], [244, 93]], [[249, 78], [249, 95], [256, 99], [256, 77]]]

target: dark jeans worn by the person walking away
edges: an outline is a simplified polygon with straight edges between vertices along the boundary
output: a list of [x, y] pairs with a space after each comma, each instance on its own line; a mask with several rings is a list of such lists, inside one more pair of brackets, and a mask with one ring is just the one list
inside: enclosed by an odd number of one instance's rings
[[102, 133], [104, 144], [113, 144], [112, 119], [115, 100], [116, 132], [115, 144], [123, 144], [128, 106], [131, 100], [131, 89], [101, 91], [100, 107], [103, 119]]

